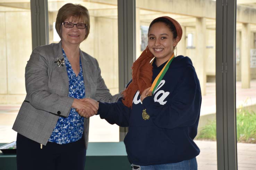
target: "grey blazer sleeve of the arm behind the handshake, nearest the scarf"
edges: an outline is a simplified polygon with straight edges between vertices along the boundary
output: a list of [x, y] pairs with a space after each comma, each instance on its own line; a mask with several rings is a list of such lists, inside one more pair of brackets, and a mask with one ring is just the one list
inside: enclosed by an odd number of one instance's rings
[[[96, 59], [95, 59], [96, 60]], [[95, 100], [101, 102], [113, 103], [117, 102], [121, 97], [121, 93], [111, 95], [108, 87], [106, 86], [104, 79], [101, 77], [101, 69], [99, 67], [99, 63], [96, 60], [96, 71], [97, 71], [97, 88], [95, 94]]]

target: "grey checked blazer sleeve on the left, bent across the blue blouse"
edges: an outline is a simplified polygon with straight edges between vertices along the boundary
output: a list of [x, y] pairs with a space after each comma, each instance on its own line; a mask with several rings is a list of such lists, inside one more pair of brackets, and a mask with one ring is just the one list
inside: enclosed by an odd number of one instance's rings
[[49, 61], [45, 51], [37, 47], [33, 50], [25, 69], [27, 102], [38, 110], [67, 117], [74, 98], [48, 91], [48, 70]]

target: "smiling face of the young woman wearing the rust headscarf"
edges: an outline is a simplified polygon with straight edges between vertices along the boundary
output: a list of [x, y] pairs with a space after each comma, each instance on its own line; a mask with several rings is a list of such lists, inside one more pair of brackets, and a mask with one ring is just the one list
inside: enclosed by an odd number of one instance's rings
[[165, 23], [156, 22], [150, 27], [148, 49], [155, 56], [157, 66], [169, 60], [177, 44], [177, 38], [173, 39], [173, 34]]

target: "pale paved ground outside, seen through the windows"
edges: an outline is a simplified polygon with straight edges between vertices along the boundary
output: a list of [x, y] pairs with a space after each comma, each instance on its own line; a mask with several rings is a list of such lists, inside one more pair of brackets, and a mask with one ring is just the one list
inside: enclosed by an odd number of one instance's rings
[[[207, 83], [207, 94], [203, 96], [201, 115], [215, 113], [215, 83]], [[256, 104], [256, 80], [251, 81], [251, 88], [241, 89], [237, 83], [237, 107]], [[11, 130], [20, 105], [0, 105], [0, 143], [16, 140], [16, 132]], [[256, 127], [255, 127], [256, 128]], [[118, 141], [119, 128], [109, 125], [99, 116], [90, 120], [89, 141]], [[217, 170], [216, 142], [195, 141], [201, 152], [197, 157], [198, 170]], [[256, 144], [238, 143], [238, 169], [256, 170]]]

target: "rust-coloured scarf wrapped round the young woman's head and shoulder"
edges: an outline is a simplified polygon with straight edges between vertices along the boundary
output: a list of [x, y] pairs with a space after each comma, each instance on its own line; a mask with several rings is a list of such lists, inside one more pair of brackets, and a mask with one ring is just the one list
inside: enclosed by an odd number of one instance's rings
[[[162, 18], [162, 17], [159, 17], [159, 18]], [[180, 24], [176, 20], [170, 17], [164, 16], [163, 18], [166, 18], [173, 23], [177, 31], [178, 41], [180, 41], [182, 36], [182, 29]], [[131, 107], [133, 105], [133, 98], [137, 90], [139, 90], [139, 94], [141, 94], [146, 88], [151, 87], [153, 67], [150, 64], [150, 61], [153, 59], [153, 57], [154, 55], [150, 52], [147, 46], [146, 49], [142, 52], [142, 54], [139, 56], [139, 58], [133, 63], [133, 66], [131, 67], [131, 69], [133, 70], [132, 71], [133, 81], [123, 91], [122, 102], [127, 107]]]

